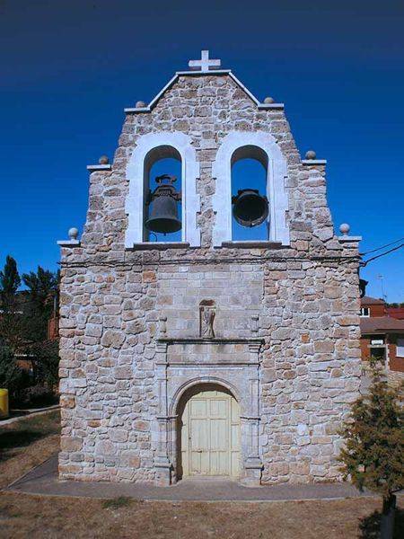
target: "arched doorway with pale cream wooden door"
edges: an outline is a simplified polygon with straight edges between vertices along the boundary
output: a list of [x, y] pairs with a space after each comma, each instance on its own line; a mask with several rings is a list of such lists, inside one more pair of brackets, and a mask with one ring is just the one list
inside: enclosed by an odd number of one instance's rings
[[199, 384], [178, 406], [177, 477], [238, 477], [241, 468], [240, 405], [219, 384]]

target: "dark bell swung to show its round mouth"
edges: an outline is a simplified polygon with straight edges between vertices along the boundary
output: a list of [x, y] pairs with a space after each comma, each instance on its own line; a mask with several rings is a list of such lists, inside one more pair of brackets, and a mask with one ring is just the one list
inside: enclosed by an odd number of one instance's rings
[[232, 202], [234, 219], [242, 226], [258, 226], [268, 217], [268, 199], [257, 189], [239, 190]]

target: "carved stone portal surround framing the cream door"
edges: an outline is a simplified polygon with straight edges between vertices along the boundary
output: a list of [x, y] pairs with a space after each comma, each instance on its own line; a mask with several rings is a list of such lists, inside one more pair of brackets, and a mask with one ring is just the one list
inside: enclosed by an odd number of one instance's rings
[[[177, 481], [178, 417], [189, 392], [207, 384], [229, 392], [240, 404], [240, 481], [259, 484], [259, 338], [157, 339], [155, 393], [158, 411], [153, 423], [156, 484]], [[229, 361], [228, 358], [232, 357]], [[201, 360], [203, 358], [203, 360]]]

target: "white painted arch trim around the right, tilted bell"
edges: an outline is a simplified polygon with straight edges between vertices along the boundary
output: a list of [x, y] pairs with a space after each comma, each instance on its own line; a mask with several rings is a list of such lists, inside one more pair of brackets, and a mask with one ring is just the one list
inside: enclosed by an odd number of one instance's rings
[[288, 245], [289, 228], [285, 215], [289, 205], [285, 190], [287, 163], [275, 137], [265, 131], [232, 131], [224, 137], [217, 150], [212, 165], [212, 176], [215, 178], [213, 244], [220, 247], [223, 242], [232, 241], [232, 156], [242, 146], [258, 146], [268, 155], [268, 241]]

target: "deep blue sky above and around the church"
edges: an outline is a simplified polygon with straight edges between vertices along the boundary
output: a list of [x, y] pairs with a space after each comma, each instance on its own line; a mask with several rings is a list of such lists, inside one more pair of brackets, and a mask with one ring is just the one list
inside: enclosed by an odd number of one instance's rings
[[[399, 1], [0, 2], [0, 265], [57, 268], [83, 229], [85, 166], [112, 156], [124, 107], [149, 102], [201, 49], [272, 95], [302, 154], [328, 159], [334, 224], [367, 251], [404, 236], [404, 6]], [[363, 271], [404, 301], [404, 249]]]

